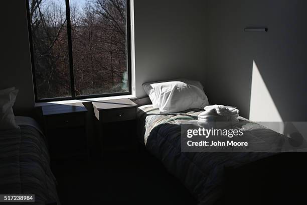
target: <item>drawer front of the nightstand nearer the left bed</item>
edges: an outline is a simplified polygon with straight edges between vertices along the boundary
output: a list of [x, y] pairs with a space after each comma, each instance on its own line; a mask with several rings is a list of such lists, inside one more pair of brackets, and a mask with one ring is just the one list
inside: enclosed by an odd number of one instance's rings
[[46, 117], [48, 128], [79, 127], [85, 125], [83, 114], [66, 114]]

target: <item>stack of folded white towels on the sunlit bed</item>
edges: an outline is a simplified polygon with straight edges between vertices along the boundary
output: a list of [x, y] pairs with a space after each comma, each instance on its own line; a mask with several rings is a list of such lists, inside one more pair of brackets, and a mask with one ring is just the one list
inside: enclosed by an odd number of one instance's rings
[[[206, 106], [204, 112], [198, 115], [199, 121], [206, 122], [233, 122], [238, 123], [239, 110], [232, 106]], [[233, 124], [232, 123], [232, 124]]]

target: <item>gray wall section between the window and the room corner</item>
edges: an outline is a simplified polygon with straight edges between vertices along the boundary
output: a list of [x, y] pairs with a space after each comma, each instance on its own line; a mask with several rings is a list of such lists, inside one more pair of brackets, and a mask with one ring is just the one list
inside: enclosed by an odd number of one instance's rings
[[141, 84], [205, 78], [205, 1], [134, 1], [136, 94]]

